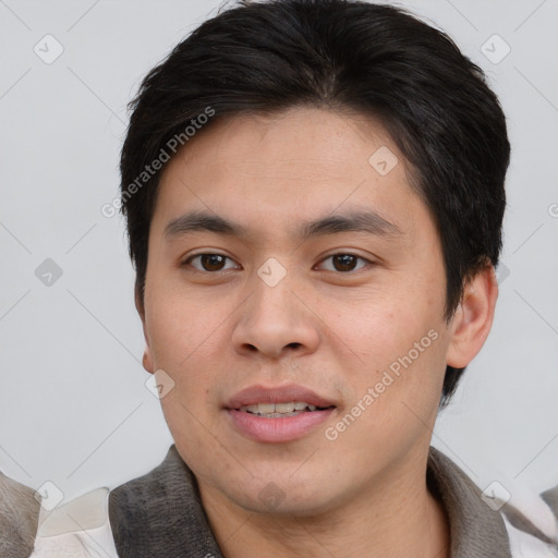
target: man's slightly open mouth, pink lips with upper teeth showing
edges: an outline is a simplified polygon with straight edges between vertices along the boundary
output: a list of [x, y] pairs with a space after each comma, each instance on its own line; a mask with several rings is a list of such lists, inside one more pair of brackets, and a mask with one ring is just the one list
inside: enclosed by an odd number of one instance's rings
[[336, 409], [332, 400], [296, 385], [252, 386], [236, 393], [225, 407], [238, 433], [270, 444], [303, 438]]

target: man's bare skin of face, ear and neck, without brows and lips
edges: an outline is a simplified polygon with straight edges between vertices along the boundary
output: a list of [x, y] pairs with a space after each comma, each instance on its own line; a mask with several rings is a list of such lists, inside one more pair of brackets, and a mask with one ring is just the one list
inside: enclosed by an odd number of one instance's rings
[[[399, 159], [386, 175], [368, 163], [381, 146]], [[497, 284], [488, 266], [444, 318], [440, 242], [409, 172], [379, 123], [314, 108], [216, 122], [163, 170], [145, 299], [136, 293], [144, 366], [175, 383], [162, 410], [228, 558], [251, 548], [267, 557], [449, 556], [446, 514], [425, 484], [432, 428], [446, 365], [465, 366], [483, 345]], [[303, 222], [362, 209], [399, 232], [298, 235]], [[168, 223], [191, 210], [247, 234], [167, 238]], [[201, 258], [186, 262], [199, 253], [230, 259], [204, 270]], [[333, 254], [364, 259], [338, 270]], [[270, 257], [287, 271], [276, 287], [257, 275]], [[437, 339], [327, 439], [326, 427], [430, 330]], [[289, 383], [335, 401], [327, 424], [282, 444], [232, 426], [223, 405], [234, 393]], [[270, 482], [279, 505], [259, 497]]]

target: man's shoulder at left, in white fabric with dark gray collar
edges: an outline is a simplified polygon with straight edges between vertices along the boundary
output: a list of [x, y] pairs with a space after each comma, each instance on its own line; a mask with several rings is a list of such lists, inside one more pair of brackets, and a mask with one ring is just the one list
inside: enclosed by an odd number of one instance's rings
[[0, 551], [0, 557], [26, 558], [33, 550], [31, 558], [167, 558], [208, 553], [221, 558], [194, 475], [174, 447], [146, 475], [111, 492], [89, 492], [50, 511], [40, 508], [38, 520], [34, 550], [31, 536], [28, 551]]

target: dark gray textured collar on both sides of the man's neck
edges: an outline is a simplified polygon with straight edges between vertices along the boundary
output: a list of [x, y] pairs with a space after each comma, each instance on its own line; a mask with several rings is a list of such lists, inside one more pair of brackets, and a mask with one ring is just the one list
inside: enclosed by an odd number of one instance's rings
[[[435, 448], [428, 456], [427, 482], [449, 517], [451, 558], [511, 558], [500, 513]], [[222, 558], [195, 477], [174, 446], [158, 468], [111, 492], [109, 517], [121, 558]]]

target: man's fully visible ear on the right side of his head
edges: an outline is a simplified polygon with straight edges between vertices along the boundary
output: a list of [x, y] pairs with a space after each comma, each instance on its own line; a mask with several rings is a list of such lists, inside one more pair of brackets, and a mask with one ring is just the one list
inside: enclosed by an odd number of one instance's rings
[[498, 281], [489, 264], [466, 284], [451, 318], [448, 365], [464, 368], [478, 353], [490, 331], [497, 299]]

